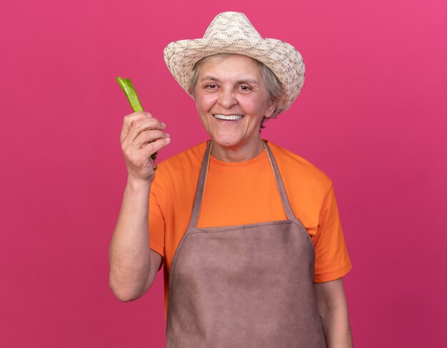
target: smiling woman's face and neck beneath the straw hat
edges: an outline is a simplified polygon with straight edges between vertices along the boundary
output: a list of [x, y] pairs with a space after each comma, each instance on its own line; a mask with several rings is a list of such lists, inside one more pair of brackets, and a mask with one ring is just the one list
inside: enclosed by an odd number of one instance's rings
[[238, 162], [261, 152], [259, 127], [276, 105], [267, 98], [253, 58], [210, 57], [200, 68], [195, 95], [201, 122], [213, 142], [214, 157]]

